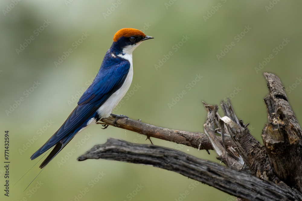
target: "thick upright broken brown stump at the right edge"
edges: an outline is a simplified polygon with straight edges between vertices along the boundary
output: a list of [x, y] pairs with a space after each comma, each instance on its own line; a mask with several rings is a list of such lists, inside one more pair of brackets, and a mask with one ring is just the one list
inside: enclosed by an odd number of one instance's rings
[[264, 76], [270, 94], [264, 99], [268, 124], [262, 130], [263, 143], [274, 173], [302, 192], [301, 127], [280, 79], [271, 73]]

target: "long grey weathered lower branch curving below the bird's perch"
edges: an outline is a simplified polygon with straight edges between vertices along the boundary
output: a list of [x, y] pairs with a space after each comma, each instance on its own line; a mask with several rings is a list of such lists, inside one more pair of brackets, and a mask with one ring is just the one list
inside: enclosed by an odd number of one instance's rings
[[135, 144], [109, 138], [105, 144], [94, 146], [78, 158], [79, 161], [86, 159], [108, 159], [152, 165], [177, 172], [247, 200], [302, 200], [302, 194], [289, 187], [280, 187], [245, 172], [155, 145]]

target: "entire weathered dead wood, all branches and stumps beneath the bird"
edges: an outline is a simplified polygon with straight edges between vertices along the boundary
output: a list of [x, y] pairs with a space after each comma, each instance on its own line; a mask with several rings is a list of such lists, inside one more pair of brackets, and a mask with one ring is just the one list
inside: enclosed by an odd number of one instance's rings
[[262, 130], [264, 146], [250, 134], [249, 123], [245, 125], [238, 120], [229, 100], [221, 103], [224, 117], [217, 113], [217, 105], [203, 102], [207, 110], [205, 134], [112, 116], [99, 123], [131, 130], [147, 138], [196, 149], [214, 149], [217, 159], [229, 168], [173, 149], [116, 139], [93, 147], [78, 160], [102, 158], [153, 165], [248, 200], [302, 200], [302, 131], [280, 79], [274, 74], [264, 75], [270, 93], [264, 99], [268, 112], [268, 124]]

